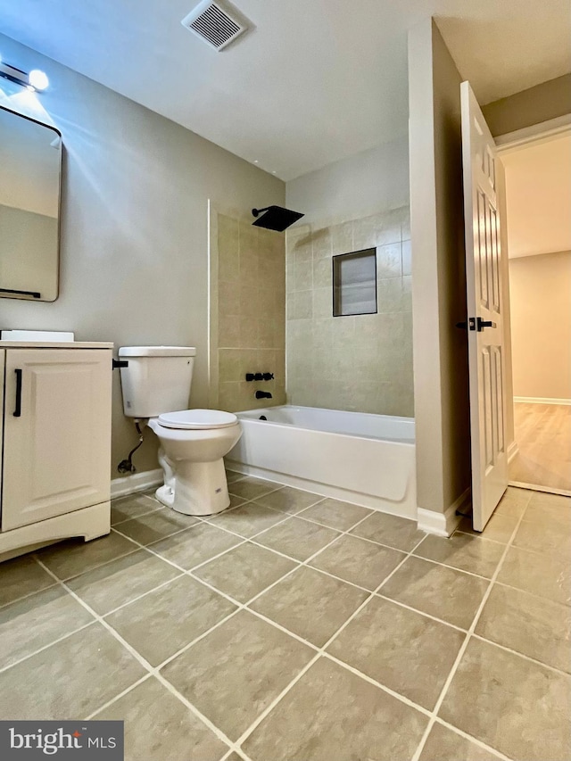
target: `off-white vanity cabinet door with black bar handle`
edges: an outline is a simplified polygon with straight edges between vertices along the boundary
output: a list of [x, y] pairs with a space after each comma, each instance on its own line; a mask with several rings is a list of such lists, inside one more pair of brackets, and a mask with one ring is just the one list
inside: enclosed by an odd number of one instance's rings
[[3, 531], [109, 500], [111, 356], [6, 350]]

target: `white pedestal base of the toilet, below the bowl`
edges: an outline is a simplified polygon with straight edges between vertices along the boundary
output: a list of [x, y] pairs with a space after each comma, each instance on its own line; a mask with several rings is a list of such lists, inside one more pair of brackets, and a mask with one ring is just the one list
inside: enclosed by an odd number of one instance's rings
[[214, 462], [178, 460], [170, 465], [174, 467], [172, 475], [166, 479], [168, 483], [155, 492], [163, 505], [186, 516], [211, 516], [229, 507], [223, 459]]

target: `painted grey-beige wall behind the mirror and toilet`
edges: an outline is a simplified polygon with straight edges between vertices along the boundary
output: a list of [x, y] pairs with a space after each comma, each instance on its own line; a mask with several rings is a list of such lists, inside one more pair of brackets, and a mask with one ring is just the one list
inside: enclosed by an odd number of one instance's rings
[[[196, 346], [191, 404], [208, 402], [208, 199], [246, 216], [284, 204], [285, 185], [246, 161], [77, 72], [0, 36], [4, 58], [42, 69], [50, 87], [22, 98], [61, 129], [60, 297], [2, 299], [0, 327], [74, 330], [83, 341]], [[4, 80], [2, 89], [5, 92]], [[34, 103], [37, 103], [34, 107]], [[157, 467], [154, 435], [135, 455]], [[113, 378], [112, 476], [137, 442]]]

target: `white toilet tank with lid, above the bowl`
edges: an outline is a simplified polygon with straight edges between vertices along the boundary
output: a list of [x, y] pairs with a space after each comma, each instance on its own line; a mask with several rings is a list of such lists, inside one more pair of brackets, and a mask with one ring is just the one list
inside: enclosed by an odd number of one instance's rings
[[128, 418], [155, 418], [188, 409], [196, 350], [193, 346], [122, 346], [123, 411]]

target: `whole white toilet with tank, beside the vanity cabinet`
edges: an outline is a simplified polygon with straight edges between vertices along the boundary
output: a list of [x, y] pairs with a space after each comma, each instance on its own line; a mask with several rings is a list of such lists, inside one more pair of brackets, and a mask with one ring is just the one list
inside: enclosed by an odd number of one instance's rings
[[196, 350], [190, 346], [123, 346], [123, 409], [159, 437], [164, 484], [156, 497], [179, 513], [207, 516], [228, 508], [224, 455], [242, 431], [236, 415], [185, 409]]

